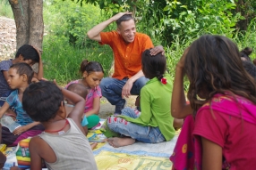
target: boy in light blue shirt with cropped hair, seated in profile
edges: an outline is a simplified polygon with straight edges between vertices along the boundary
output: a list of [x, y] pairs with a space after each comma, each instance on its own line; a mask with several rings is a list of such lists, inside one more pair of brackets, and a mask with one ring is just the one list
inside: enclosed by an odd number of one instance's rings
[[6, 98], [3, 107], [0, 108], [0, 118], [10, 107], [13, 107], [17, 113], [16, 122], [21, 126], [16, 128], [13, 133], [7, 127], [2, 127], [2, 143], [7, 146], [16, 146], [22, 139], [40, 134], [44, 130], [43, 125], [34, 122], [22, 109], [23, 92], [30, 85], [33, 75], [33, 69], [24, 62], [13, 64], [8, 70], [7, 82], [14, 91]]

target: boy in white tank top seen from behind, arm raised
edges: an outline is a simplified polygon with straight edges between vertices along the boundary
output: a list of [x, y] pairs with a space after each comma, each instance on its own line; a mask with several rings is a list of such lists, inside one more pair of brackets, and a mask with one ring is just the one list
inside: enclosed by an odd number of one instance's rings
[[[73, 102], [66, 118], [64, 97]], [[48, 81], [30, 85], [23, 95], [23, 108], [45, 126], [45, 132], [30, 140], [30, 169], [96, 170], [90, 143], [81, 127], [84, 99]]]

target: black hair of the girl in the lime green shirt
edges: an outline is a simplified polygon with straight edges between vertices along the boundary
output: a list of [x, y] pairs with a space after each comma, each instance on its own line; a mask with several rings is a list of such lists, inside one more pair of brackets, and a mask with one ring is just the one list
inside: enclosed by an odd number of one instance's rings
[[145, 50], [141, 57], [142, 71], [145, 77], [151, 79], [157, 77], [159, 81], [166, 72], [166, 56], [162, 53], [151, 55], [150, 49]]

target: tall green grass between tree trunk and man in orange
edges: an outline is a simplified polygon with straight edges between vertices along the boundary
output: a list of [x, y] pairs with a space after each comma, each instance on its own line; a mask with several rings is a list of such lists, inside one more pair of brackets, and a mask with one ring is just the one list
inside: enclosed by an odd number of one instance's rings
[[45, 36], [43, 44], [44, 77], [56, 79], [60, 85], [81, 78], [80, 64], [83, 60], [101, 63], [105, 76], [111, 67], [112, 51], [108, 46], [96, 45], [91, 48], [76, 48], [55, 36]]

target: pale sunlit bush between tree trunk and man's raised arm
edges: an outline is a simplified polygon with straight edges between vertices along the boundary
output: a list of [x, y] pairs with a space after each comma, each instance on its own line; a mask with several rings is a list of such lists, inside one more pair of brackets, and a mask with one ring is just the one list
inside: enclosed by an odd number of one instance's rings
[[81, 7], [70, 1], [48, 0], [44, 8], [44, 19], [49, 34], [64, 36], [69, 44], [75, 47], [83, 48], [96, 44], [87, 38], [86, 33], [103, 20], [97, 6], [87, 4]]

